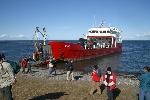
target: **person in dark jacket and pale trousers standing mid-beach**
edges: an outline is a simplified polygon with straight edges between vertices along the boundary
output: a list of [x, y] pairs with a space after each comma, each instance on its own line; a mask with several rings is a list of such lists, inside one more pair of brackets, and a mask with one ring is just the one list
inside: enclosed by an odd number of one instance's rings
[[65, 68], [67, 70], [67, 80], [70, 80], [70, 75], [71, 75], [71, 79], [74, 80], [74, 76], [73, 76], [73, 60], [69, 60], [65, 63]]

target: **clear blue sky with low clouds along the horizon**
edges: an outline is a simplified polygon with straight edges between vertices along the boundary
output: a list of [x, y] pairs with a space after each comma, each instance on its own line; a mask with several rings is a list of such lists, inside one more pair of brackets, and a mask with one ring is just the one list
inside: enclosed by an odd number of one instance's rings
[[149, 4], [150, 0], [0, 0], [0, 40], [31, 40], [37, 26], [46, 27], [49, 40], [77, 40], [102, 20], [121, 29], [124, 40], [150, 40]]

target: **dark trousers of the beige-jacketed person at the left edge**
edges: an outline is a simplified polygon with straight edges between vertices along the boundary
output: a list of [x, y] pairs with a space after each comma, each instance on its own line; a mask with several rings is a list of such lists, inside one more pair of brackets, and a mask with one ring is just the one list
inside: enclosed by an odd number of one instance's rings
[[11, 88], [12, 88], [12, 86], [7, 86], [7, 87], [0, 89], [0, 92], [2, 94], [2, 98], [4, 100], [13, 100]]

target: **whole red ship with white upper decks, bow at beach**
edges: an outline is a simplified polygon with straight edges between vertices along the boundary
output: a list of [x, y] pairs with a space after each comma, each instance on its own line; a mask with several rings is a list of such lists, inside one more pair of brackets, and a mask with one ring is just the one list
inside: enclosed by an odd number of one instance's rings
[[77, 43], [49, 41], [49, 55], [56, 60], [84, 60], [122, 51], [121, 31], [103, 23], [92, 27]]

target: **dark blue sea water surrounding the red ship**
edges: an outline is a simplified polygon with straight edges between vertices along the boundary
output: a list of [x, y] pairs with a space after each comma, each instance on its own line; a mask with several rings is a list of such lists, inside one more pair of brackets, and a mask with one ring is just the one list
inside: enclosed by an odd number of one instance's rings
[[[34, 51], [32, 40], [0, 41], [0, 52], [3, 52], [9, 60], [18, 61], [23, 56], [32, 57]], [[78, 61], [74, 66], [76, 70], [88, 71], [94, 64], [99, 65], [102, 70], [110, 66], [118, 72], [139, 72], [144, 66], [150, 66], [150, 40], [124, 40], [121, 53]]]

